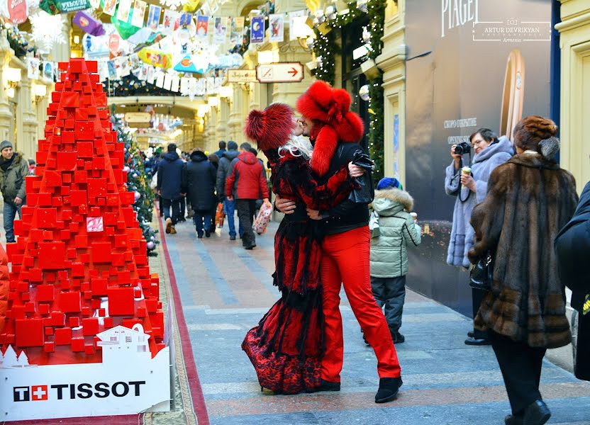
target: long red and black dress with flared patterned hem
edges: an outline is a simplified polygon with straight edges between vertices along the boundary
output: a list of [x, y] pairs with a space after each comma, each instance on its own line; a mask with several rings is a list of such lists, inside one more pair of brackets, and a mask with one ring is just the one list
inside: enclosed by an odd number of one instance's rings
[[308, 218], [306, 207], [329, 210], [345, 200], [354, 183], [347, 167], [318, 185], [309, 162], [290, 152], [271, 161], [272, 188], [281, 198], [296, 202], [274, 237], [274, 285], [281, 298], [247, 332], [242, 349], [252, 361], [262, 387], [277, 394], [313, 391], [320, 385], [325, 350], [320, 282], [321, 232]]

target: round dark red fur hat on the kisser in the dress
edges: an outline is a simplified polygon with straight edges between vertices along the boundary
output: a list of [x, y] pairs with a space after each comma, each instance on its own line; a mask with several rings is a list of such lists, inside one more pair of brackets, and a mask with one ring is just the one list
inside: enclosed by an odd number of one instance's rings
[[289, 140], [293, 127], [291, 107], [284, 103], [272, 103], [264, 111], [250, 111], [244, 134], [262, 150], [277, 149]]

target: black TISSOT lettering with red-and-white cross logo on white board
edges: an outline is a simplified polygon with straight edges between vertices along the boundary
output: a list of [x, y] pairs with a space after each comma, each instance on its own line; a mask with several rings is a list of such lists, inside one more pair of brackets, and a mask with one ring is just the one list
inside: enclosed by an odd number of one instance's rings
[[82, 384], [55, 384], [55, 385], [31, 385], [30, 387], [13, 387], [13, 400], [15, 402], [37, 402], [48, 399], [89, 399], [91, 397], [139, 397], [141, 386], [145, 381], [115, 382], [113, 385], [107, 382], [97, 382], [92, 385]]

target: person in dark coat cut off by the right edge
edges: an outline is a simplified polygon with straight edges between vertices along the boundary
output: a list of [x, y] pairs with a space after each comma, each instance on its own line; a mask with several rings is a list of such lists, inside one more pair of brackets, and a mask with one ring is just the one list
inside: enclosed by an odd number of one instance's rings
[[555, 238], [557, 264], [562, 281], [572, 290], [572, 308], [579, 313], [577, 355], [574, 372], [590, 380], [590, 182], [580, 196], [578, 208]]

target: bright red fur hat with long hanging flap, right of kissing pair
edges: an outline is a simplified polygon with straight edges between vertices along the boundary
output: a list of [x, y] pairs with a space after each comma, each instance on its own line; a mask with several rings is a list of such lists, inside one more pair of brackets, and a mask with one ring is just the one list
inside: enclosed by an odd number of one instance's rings
[[364, 134], [360, 116], [350, 112], [350, 94], [316, 81], [297, 100], [297, 110], [305, 118], [316, 120], [311, 168], [320, 176], [328, 172], [338, 142], [359, 142]]

